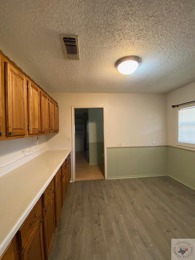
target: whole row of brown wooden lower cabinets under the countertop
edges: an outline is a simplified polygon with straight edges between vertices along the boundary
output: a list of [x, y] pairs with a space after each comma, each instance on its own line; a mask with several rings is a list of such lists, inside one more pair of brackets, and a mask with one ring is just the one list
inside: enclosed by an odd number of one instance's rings
[[0, 260], [48, 260], [70, 178], [69, 154]]

